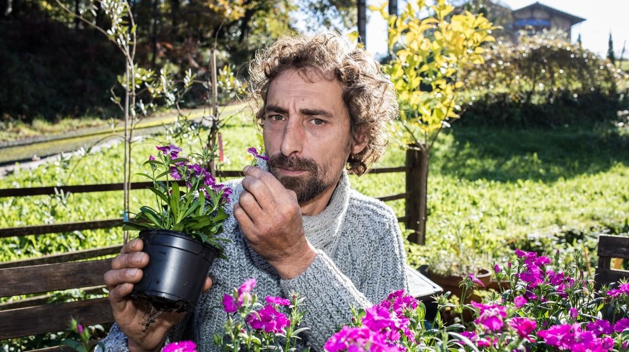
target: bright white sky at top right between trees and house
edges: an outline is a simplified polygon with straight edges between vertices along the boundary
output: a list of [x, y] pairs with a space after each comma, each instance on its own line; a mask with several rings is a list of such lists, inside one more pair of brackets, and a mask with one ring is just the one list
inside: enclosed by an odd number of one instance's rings
[[[535, 3], [536, 0], [501, 0], [511, 9], [519, 9]], [[629, 0], [540, 0], [541, 4], [585, 18], [572, 26], [572, 40], [576, 42], [579, 33], [585, 48], [603, 57], [607, 55], [608, 39], [614, 42], [616, 58], [620, 59], [623, 41], [626, 40], [625, 59], [629, 58]], [[368, 0], [369, 5], [384, 3], [382, 0]], [[406, 1], [398, 0], [401, 11]], [[376, 57], [386, 54], [386, 22], [379, 13], [367, 14], [367, 51]]]

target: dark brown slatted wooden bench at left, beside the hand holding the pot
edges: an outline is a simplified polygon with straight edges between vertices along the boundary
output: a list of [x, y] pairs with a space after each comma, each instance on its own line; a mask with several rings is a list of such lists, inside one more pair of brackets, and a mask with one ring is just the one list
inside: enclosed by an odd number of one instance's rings
[[[94, 259], [120, 253], [121, 246], [0, 263], [0, 297], [33, 295], [0, 304], [0, 340], [45, 332], [65, 331], [70, 318], [84, 326], [113, 322], [109, 299], [90, 298], [75, 302], [47, 303], [51, 292], [82, 288], [102, 293], [103, 275], [111, 260]], [[77, 259], [89, 260], [75, 261]], [[53, 349], [45, 349], [51, 351]]]

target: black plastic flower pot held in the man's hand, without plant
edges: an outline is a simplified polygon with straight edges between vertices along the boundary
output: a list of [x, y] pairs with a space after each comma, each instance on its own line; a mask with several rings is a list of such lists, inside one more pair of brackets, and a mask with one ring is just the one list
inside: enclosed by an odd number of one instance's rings
[[159, 311], [192, 311], [219, 250], [182, 232], [140, 231], [148, 264], [131, 296]]

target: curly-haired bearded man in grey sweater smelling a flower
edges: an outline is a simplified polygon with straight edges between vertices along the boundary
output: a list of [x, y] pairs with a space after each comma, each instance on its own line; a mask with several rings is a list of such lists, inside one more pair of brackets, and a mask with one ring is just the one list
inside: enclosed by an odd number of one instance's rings
[[[144, 312], [128, 295], [150, 258], [130, 241], [104, 276], [116, 319], [108, 350], [154, 351], [168, 338], [216, 349], [226, 319], [221, 298], [247, 278], [260, 296], [298, 292], [306, 298], [306, 344], [321, 350], [350, 307], [368, 307], [406, 288], [396, 216], [384, 203], [350, 189], [386, 145], [398, 113], [391, 81], [360, 48], [336, 33], [280, 38], [250, 67], [261, 108], [268, 164], [231, 181], [223, 224], [228, 260], [217, 260], [194, 312], [162, 314], [143, 332]], [[211, 289], [210, 289], [211, 288]], [[128, 338], [127, 338], [128, 336]]]

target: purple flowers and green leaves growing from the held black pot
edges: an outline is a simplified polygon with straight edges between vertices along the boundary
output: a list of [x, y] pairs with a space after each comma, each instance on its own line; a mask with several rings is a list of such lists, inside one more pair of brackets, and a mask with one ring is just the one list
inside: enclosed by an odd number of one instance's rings
[[[189, 234], [203, 242], [221, 247], [216, 238], [227, 218], [223, 206], [229, 202], [231, 189], [216, 183], [204, 166], [216, 157], [203, 149], [201, 154], [180, 156], [175, 145], [157, 146], [157, 157], [144, 164], [151, 174], [138, 173], [153, 182], [156, 207], [143, 205], [135, 219], [125, 222], [124, 229], [165, 229]], [[196, 161], [196, 162], [194, 162]]]

